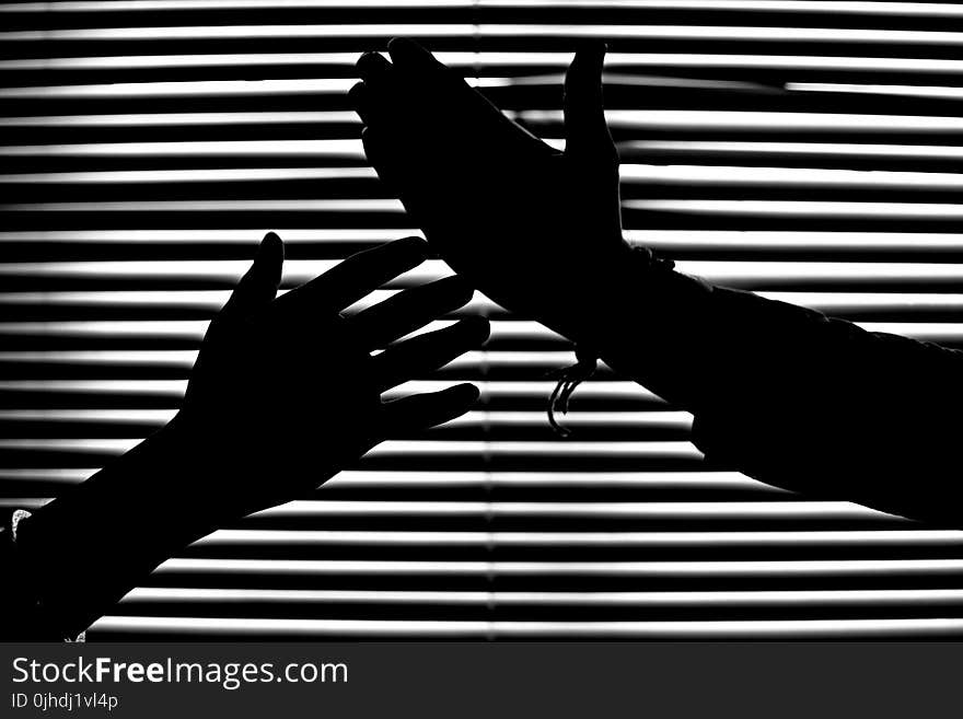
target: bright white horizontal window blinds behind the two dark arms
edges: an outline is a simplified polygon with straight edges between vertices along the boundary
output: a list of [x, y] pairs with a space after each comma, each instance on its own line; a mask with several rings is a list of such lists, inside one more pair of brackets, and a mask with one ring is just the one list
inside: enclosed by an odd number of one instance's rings
[[[4, 3], [0, 28], [7, 506], [173, 415], [264, 231], [287, 241], [286, 288], [411, 233], [345, 95], [393, 35], [553, 142], [571, 49], [604, 37], [631, 241], [868, 328], [963, 339], [960, 4], [60, 1]], [[709, 466], [687, 414], [607, 371], [556, 440], [545, 373], [570, 347], [471, 309], [487, 346], [405, 389], [474, 381], [472, 413], [197, 542], [89, 636], [963, 631], [963, 534]]]

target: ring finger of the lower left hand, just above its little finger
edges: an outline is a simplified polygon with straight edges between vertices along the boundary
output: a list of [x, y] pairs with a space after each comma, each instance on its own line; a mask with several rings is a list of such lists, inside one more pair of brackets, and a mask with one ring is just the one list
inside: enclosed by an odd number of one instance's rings
[[371, 358], [371, 371], [381, 392], [424, 378], [488, 339], [488, 321], [462, 320], [444, 329], [418, 335]]

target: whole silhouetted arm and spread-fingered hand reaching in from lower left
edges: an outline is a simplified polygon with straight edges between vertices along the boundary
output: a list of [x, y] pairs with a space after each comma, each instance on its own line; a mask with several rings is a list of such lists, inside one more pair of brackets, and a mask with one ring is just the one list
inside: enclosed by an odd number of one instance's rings
[[4, 639], [77, 635], [164, 559], [253, 511], [304, 495], [395, 428], [464, 414], [471, 384], [382, 403], [488, 336], [463, 320], [372, 356], [465, 304], [446, 278], [339, 312], [418, 265], [407, 237], [360, 253], [276, 299], [283, 246], [269, 233], [211, 322], [176, 418], [102, 472], [0, 535]]

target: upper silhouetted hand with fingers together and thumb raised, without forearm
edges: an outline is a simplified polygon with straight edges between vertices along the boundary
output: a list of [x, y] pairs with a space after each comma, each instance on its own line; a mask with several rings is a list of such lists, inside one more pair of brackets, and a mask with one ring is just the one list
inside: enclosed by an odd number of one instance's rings
[[565, 332], [627, 250], [602, 107], [604, 44], [565, 82], [566, 150], [507, 118], [407, 39], [358, 61], [350, 92], [369, 161], [460, 275]]

